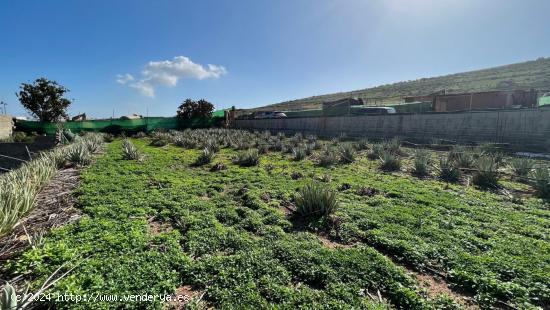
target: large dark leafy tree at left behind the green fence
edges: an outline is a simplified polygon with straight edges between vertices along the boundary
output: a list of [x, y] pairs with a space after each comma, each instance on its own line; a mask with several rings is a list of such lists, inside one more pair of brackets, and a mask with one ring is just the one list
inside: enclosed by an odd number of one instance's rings
[[31, 115], [42, 122], [57, 122], [68, 118], [71, 101], [63, 96], [69, 90], [55, 81], [39, 78], [32, 84], [21, 83], [17, 98]]

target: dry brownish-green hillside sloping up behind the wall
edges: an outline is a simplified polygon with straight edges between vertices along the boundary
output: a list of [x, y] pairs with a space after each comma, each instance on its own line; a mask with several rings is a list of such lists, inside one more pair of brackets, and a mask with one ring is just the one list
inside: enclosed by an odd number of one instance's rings
[[254, 110], [303, 110], [319, 108], [324, 101], [341, 98], [384, 98], [381, 102], [400, 102], [402, 97], [431, 94], [442, 89], [447, 93], [489, 90], [550, 89], [550, 57], [489, 69], [450, 74], [414, 81], [380, 85], [361, 90], [313, 96], [280, 102]]

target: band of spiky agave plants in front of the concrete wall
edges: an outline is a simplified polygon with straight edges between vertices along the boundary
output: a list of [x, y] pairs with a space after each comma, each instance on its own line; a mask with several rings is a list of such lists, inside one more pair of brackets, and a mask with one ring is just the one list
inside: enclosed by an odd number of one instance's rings
[[[513, 174], [521, 182], [531, 184], [538, 196], [550, 198], [548, 166], [537, 164], [528, 158], [506, 157], [490, 144], [475, 147], [457, 145], [446, 154], [434, 158], [433, 152], [427, 149], [415, 149], [410, 154], [407, 153], [397, 138], [375, 143], [367, 139], [351, 140], [345, 137], [322, 141], [314, 135], [301, 133], [286, 136], [280, 132], [271, 134], [269, 131], [250, 132], [233, 129], [198, 129], [151, 134], [152, 145], [163, 146], [168, 143], [189, 149], [201, 149], [196, 165], [210, 163], [215, 153], [226, 147], [241, 151], [234, 159], [234, 162], [241, 166], [257, 165], [260, 154], [267, 152], [287, 153], [297, 161], [311, 157], [323, 167], [352, 163], [358, 154], [366, 153], [369, 159], [379, 161], [381, 170], [399, 171], [403, 169], [402, 159], [411, 157], [410, 170], [419, 177], [436, 176], [447, 182], [459, 182], [463, 176], [471, 175], [475, 185], [494, 189], [499, 187], [499, 178], [506, 172]], [[125, 149], [130, 151], [127, 156], [129, 159], [132, 159], [132, 153], [137, 158], [141, 156], [136, 155], [139, 151], [129, 141], [125, 142]]]

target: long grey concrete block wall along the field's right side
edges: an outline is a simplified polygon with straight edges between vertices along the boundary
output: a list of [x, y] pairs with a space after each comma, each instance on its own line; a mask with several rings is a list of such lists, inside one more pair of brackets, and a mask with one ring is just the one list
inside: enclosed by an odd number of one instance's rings
[[391, 138], [430, 142], [445, 139], [459, 143], [506, 143], [513, 147], [550, 151], [550, 108], [236, 120], [235, 127], [313, 133], [323, 136]]

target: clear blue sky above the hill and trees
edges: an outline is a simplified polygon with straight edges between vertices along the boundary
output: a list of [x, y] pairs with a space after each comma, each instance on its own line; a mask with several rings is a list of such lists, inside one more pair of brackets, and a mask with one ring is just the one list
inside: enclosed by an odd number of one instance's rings
[[547, 0], [0, 0], [0, 100], [26, 115], [15, 92], [44, 76], [71, 90], [71, 115], [261, 106], [548, 57], [548, 12]]

